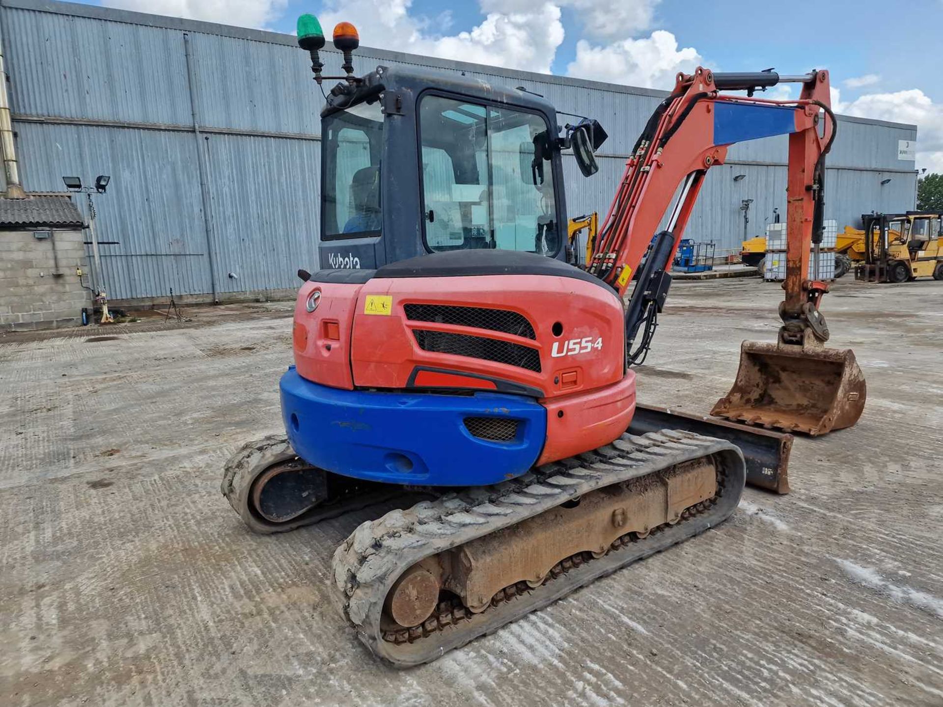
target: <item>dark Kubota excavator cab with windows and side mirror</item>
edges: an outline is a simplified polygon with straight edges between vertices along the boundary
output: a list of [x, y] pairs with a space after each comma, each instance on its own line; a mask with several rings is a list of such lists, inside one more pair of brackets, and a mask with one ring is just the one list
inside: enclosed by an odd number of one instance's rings
[[379, 268], [418, 255], [505, 250], [563, 259], [561, 149], [584, 173], [595, 122], [561, 130], [535, 93], [378, 66], [322, 111], [321, 262]]

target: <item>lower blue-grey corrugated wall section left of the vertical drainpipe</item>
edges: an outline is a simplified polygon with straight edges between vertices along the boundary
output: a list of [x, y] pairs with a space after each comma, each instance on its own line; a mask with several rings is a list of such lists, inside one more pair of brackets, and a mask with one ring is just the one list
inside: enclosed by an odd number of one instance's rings
[[[32, 191], [61, 191], [62, 176], [109, 174], [95, 195], [100, 248], [112, 298], [209, 292], [207, 243], [191, 133], [88, 125], [18, 123], [23, 179]], [[84, 196], [75, 203], [88, 218]]]

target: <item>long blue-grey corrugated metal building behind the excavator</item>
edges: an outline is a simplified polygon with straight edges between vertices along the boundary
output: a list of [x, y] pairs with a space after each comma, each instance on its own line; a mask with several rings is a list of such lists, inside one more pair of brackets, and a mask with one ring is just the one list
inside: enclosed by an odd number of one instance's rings
[[[119, 242], [102, 247], [111, 297], [162, 298], [174, 288], [225, 299], [294, 288], [299, 267], [318, 267], [323, 99], [293, 37], [49, 0], [0, 0], [0, 32], [25, 188], [111, 176], [96, 200], [99, 238]], [[325, 54], [339, 67], [339, 55]], [[377, 64], [523, 86], [599, 119], [610, 135], [600, 172], [584, 179], [565, 159], [571, 215], [605, 211], [666, 95], [374, 49], [355, 55], [357, 74]], [[871, 209], [913, 208], [914, 162], [898, 158], [898, 140], [916, 139], [914, 125], [841, 118], [826, 217], [843, 225]], [[737, 250], [743, 199], [754, 200], [751, 236], [773, 208], [785, 218], [785, 137], [732, 147], [708, 173], [687, 235]]]

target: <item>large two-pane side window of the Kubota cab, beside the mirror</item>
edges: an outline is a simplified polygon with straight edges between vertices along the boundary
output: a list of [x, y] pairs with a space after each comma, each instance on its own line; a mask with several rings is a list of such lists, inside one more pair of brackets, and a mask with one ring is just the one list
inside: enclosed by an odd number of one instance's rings
[[[442, 96], [420, 104], [425, 242], [554, 255], [554, 176], [538, 115]], [[544, 155], [544, 153], [547, 153]]]

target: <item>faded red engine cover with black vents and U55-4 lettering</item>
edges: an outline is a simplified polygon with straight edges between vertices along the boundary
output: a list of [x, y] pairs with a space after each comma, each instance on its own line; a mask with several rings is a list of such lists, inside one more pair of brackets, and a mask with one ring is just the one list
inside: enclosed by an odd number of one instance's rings
[[[538, 464], [606, 444], [635, 410], [622, 304], [533, 257], [538, 269], [524, 272], [315, 273], [295, 307], [297, 373], [347, 390], [524, 396], [547, 411]], [[501, 434], [480, 424], [485, 439]]]

